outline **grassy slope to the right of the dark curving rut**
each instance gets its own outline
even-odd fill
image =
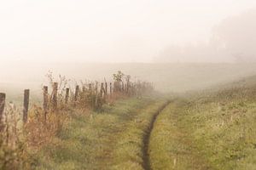
[[[152,169],[256,169],[255,87],[243,80],[168,105],[150,138]]]

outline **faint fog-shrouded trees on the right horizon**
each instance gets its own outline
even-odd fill
[[[156,61],[169,62],[255,62],[256,8],[222,20],[212,28],[208,42],[171,45]]]

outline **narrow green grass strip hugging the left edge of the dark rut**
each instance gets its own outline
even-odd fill
[[[129,122],[126,130],[120,135],[118,143],[113,150],[113,166],[110,169],[143,169],[144,161],[143,153],[144,138],[148,133],[148,127],[153,116],[165,104],[164,100],[160,100],[154,105],[149,105],[140,112],[132,122]]]

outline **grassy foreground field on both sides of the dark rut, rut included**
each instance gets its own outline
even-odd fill
[[[120,99],[74,110],[36,169],[256,168],[256,77],[167,99]]]

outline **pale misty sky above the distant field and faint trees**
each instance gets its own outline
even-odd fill
[[[162,48],[207,42],[255,0],[8,0],[3,61],[150,62]]]

